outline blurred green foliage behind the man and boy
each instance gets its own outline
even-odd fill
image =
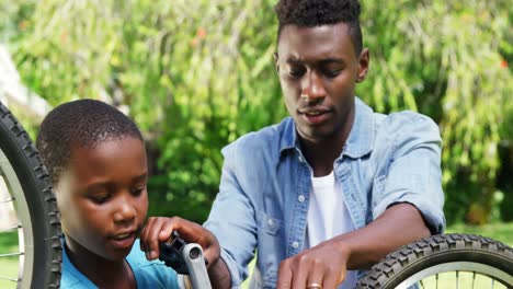
[[[150,215],[205,220],[220,149],[287,115],[273,68],[275,0],[15,0],[0,43],[50,105],[92,97],[147,139]],[[363,0],[372,62],[357,95],[431,116],[449,223],[513,220],[513,10],[506,0]],[[24,119],[34,137],[37,122]]]

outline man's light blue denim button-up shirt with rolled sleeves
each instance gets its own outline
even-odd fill
[[[244,135],[223,149],[219,194],[205,227],[221,245],[232,287],[275,288],[280,262],[305,248],[311,167],[299,149],[294,120]],[[432,233],[445,227],[438,127],[426,116],[377,114],[355,101],[352,130],[334,162],[354,222],[361,229],[390,205],[409,203]],[[408,228],[404,228],[408,230]]]

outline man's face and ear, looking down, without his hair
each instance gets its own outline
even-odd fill
[[[356,54],[347,24],[284,26],[275,60],[303,139],[318,141],[351,129],[354,88],[367,72],[368,51]]]

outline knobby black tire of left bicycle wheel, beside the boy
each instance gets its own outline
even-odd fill
[[[11,114],[11,112],[0,102],[0,132],[4,134],[0,136],[1,141],[10,141],[19,148],[16,151],[19,158],[24,158],[25,163],[29,163],[32,169],[32,176],[38,190],[41,192],[39,201],[42,203],[38,206],[42,206],[44,213],[46,215],[45,220],[45,235],[46,235],[46,245],[47,254],[46,256],[49,259],[46,259],[46,264],[35,264],[34,266],[41,268],[34,268],[38,270],[45,270],[43,274],[45,276],[44,280],[31,280],[33,288],[59,288],[60,286],[60,270],[61,270],[61,228],[60,228],[60,216],[57,209],[56,198],[54,192],[52,190],[52,180],[48,176],[46,167],[43,165],[37,150],[33,144],[31,138],[23,129],[18,119]],[[21,157],[23,155],[23,157]],[[9,155],[8,155],[9,158]],[[16,170],[16,174],[19,174]],[[31,199],[27,197],[27,203]],[[32,216],[31,216],[32,219]],[[42,220],[38,220],[42,221]],[[38,226],[39,223],[33,223]],[[34,240],[37,241],[37,240]],[[37,254],[37,253],[36,253]],[[38,275],[39,276],[39,275]]]

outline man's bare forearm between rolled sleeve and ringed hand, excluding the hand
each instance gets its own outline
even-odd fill
[[[394,250],[430,234],[414,206],[398,204],[368,226],[334,240],[349,251],[347,269],[368,269]]]

